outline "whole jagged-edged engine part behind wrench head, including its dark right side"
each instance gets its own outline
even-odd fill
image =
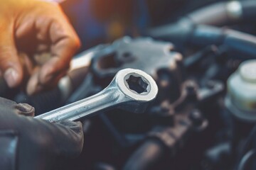
[[[142,69],[156,80],[159,98],[163,100],[171,96],[174,101],[181,95],[184,79],[182,60],[181,54],[175,52],[169,42],[124,37],[95,52],[91,68],[95,82],[102,86],[106,86],[120,69]]]

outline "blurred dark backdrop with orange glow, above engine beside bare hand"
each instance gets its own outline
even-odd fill
[[[176,21],[181,16],[220,0],[72,0],[62,3],[82,40],[82,49],[139,35],[146,28]]]

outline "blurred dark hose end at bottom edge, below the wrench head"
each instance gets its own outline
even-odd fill
[[[123,170],[157,169],[166,154],[166,147],[159,140],[147,140],[128,159]]]

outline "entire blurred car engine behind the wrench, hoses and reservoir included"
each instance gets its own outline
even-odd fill
[[[0,82],[1,96],[41,115],[97,94],[122,69],[156,81],[144,113],[112,108],[81,118],[82,154],[61,169],[256,169],[256,1],[168,3],[181,7],[154,15],[155,26],[76,55],[56,89],[27,96]]]

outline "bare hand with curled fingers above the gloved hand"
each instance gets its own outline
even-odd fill
[[[0,76],[29,95],[50,89],[68,71],[80,47],[58,4],[0,0]]]

